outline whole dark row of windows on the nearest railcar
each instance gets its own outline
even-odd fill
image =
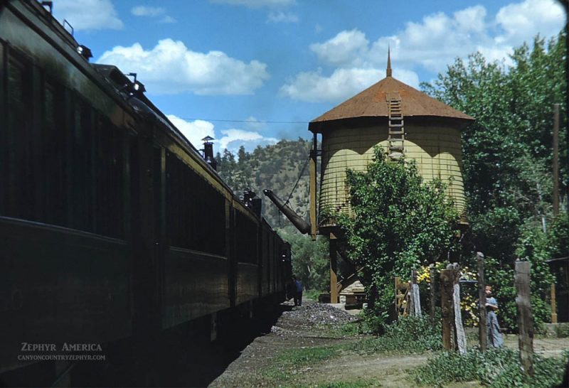
[[[15,50],[6,73],[0,215],[124,237],[122,131]]]

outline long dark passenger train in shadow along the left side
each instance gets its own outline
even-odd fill
[[[34,363],[23,343],[194,320],[215,337],[285,298],[290,247],[260,199],[233,193],[136,75],[90,56],[50,1],[0,1],[0,380]]]

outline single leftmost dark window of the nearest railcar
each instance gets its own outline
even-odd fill
[[[9,217],[33,220],[31,66],[25,60],[10,58],[7,87],[8,152],[4,170],[6,177],[2,184],[5,185],[3,213]]]

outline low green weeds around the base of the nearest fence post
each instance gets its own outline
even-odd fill
[[[521,372],[519,352],[515,350],[502,348],[479,352],[471,349],[464,355],[442,352],[418,368],[413,379],[416,384],[436,387],[475,380],[496,388],[553,387],[563,379],[568,355],[567,352],[557,358],[535,355],[535,374],[526,377]]]

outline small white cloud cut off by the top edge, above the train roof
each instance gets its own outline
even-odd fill
[[[75,31],[123,28],[117,11],[110,0],[58,0],[54,1],[55,18],[68,21]]]

